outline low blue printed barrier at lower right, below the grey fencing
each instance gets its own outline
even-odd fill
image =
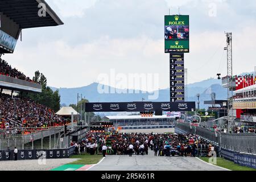
[[[256,156],[250,154],[242,154],[226,149],[221,150],[221,156],[224,159],[230,160],[240,166],[251,167],[256,169]]]

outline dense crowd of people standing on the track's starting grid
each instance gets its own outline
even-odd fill
[[[202,150],[207,156],[218,152],[216,144],[193,134],[142,134],[142,133],[118,133],[114,139],[108,142],[106,134],[86,134],[86,137],[79,143],[72,142],[75,146],[75,154],[95,155],[101,153],[102,148],[107,148],[108,155],[148,155],[154,151],[155,156],[200,156]],[[106,147],[106,145],[108,147]],[[132,146],[132,147],[131,147]],[[132,148],[132,150],[131,150]],[[172,153],[174,152],[175,153]],[[131,154],[132,152],[132,154]]]

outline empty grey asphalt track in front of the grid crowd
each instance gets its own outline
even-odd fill
[[[111,155],[106,156],[101,163],[89,171],[224,171],[225,169],[212,166],[197,158],[179,156],[148,155]]]

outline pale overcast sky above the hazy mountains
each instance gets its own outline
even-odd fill
[[[30,77],[36,70],[43,72],[50,86],[89,85],[115,69],[126,75],[159,73],[159,88],[168,88],[164,15],[170,8],[177,14],[178,7],[180,14],[190,15],[190,53],[185,54],[189,83],[226,75],[224,31],[233,32],[233,73],[252,72],[256,66],[256,1],[47,2],[65,24],[23,30],[14,54],[3,59]]]

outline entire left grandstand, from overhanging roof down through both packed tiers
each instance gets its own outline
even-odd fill
[[[14,53],[23,30],[59,26],[64,23],[44,0],[0,1],[0,15],[0,137],[28,136],[27,140],[22,137],[22,143],[26,144],[31,142],[31,133],[48,127],[64,126],[68,120],[29,98],[15,96],[14,92],[41,93],[42,85],[24,75],[2,57],[5,53]],[[60,130],[53,131],[51,134],[60,132]],[[49,135],[41,133],[36,139]],[[16,145],[19,140],[19,138],[14,138],[13,141],[12,138],[9,139],[9,147]],[[4,139],[1,140],[2,144],[4,142]]]

